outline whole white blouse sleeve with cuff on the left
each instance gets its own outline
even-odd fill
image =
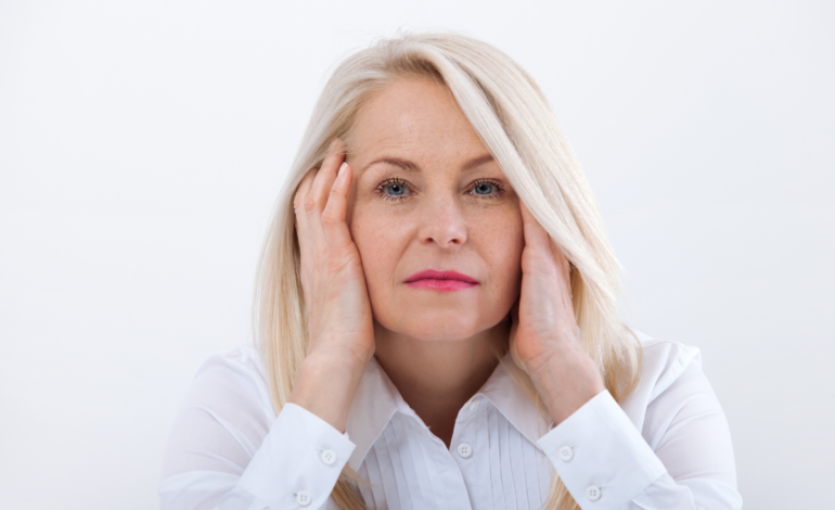
[[[275,417],[254,364],[241,349],[198,370],[168,441],[163,510],[325,508],[355,445],[295,404]]]

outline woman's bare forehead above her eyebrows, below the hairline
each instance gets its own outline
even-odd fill
[[[395,81],[371,99],[352,129],[355,155],[387,151],[471,155],[487,149],[450,90],[431,78]]]

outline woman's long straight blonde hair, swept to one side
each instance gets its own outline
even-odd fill
[[[321,165],[334,137],[349,138],[360,107],[391,82],[431,77],[446,85],[519,199],[573,266],[571,292],[586,350],[620,401],[640,377],[640,344],[621,322],[621,266],[598,205],[545,94],[492,46],[453,33],[384,39],[339,64],[313,110],[281,190],[262,247],[253,322],[277,411],[287,401],[307,350],[307,322],[293,195]],[[532,395],[541,407],[538,395]],[[332,496],[344,510],[365,508],[347,466]],[[548,509],[579,509],[554,473]]]

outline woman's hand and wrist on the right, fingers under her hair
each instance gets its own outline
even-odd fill
[[[525,234],[522,291],[511,309],[510,347],[555,424],[606,388],[574,315],[568,259],[519,202]]]

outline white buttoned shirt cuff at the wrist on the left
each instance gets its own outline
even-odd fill
[[[354,448],[347,434],[285,404],[237,488],[269,508],[323,508]]]

